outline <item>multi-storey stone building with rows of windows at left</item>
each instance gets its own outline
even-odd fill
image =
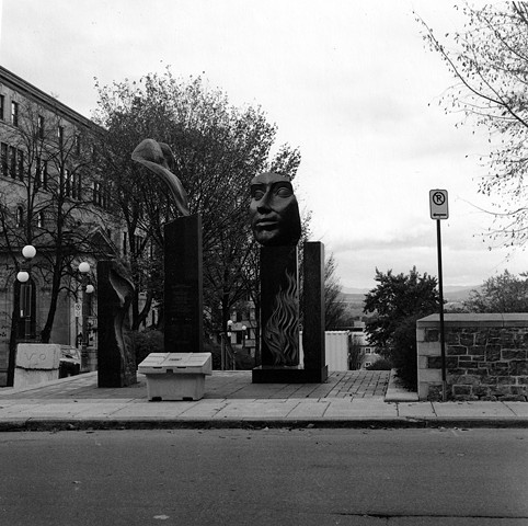
[[[38,341],[58,287],[49,341],[79,345],[79,263],[88,261],[93,267],[97,255],[122,250],[122,229],[106,209],[104,180],[91,163],[91,137],[101,132],[0,67],[0,386],[7,385],[12,329],[19,341]],[[36,256],[27,268],[28,282],[21,284],[16,274],[30,264],[21,254],[26,244],[36,248]],[[60,272],[54,272],[54,265],[61,265]],[[55,285],[54,275],[60,276]],[[88,301],[92,344],[95,297]]]

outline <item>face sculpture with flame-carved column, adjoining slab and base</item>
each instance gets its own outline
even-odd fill
[[[253,382],[325,381],[324,249],[320,242],[305,243],[305,363],[299,364],[297,243],[301,225],[289,179],[269,172],[254,178],[250,218],[262,245],[262,366],[253,369]]]

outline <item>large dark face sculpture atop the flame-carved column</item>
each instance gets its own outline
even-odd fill
[[[295,245],[300,238],[299,205],[289,179],[265,172],[251,181],[251,229],[264,247]]]

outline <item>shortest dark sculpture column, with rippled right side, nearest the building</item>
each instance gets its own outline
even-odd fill
[[[116,261],[97,262],[97,387],[136,384],[136,353],[130,338],[134,285]]]

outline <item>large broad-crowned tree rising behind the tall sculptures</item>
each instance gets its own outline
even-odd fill
[[[147,249],[163,247],[162,225],[176,217],[164,199],[164,191],[130,160],[145,138],[168,144],[174,152],[174,173],[188,194],[192,214],[203,222],[205,301],[213,325],[225,327],[232,306],[246,296],[254,278],[250,263],[255,247],[246,210],[249,183],[259,172],[278,170],[295,176],[300,162],[297,149],[283,145],[271,155],[276,125],[261,107],[237,108],[225,93],[211,90],[202,78],[175,79],[147,75],[138,83],[127,80],[111,87],[97,84],[100,101],[95,118],[107,135],[100,145],[102,171],[113,182],[112,199],[127,225],[127,260],[138,290],[147,291],[140,311],[135,301],[134,327],[145,320],[151,300],[162,302],[161,265],[158,285],[140,262]]]

